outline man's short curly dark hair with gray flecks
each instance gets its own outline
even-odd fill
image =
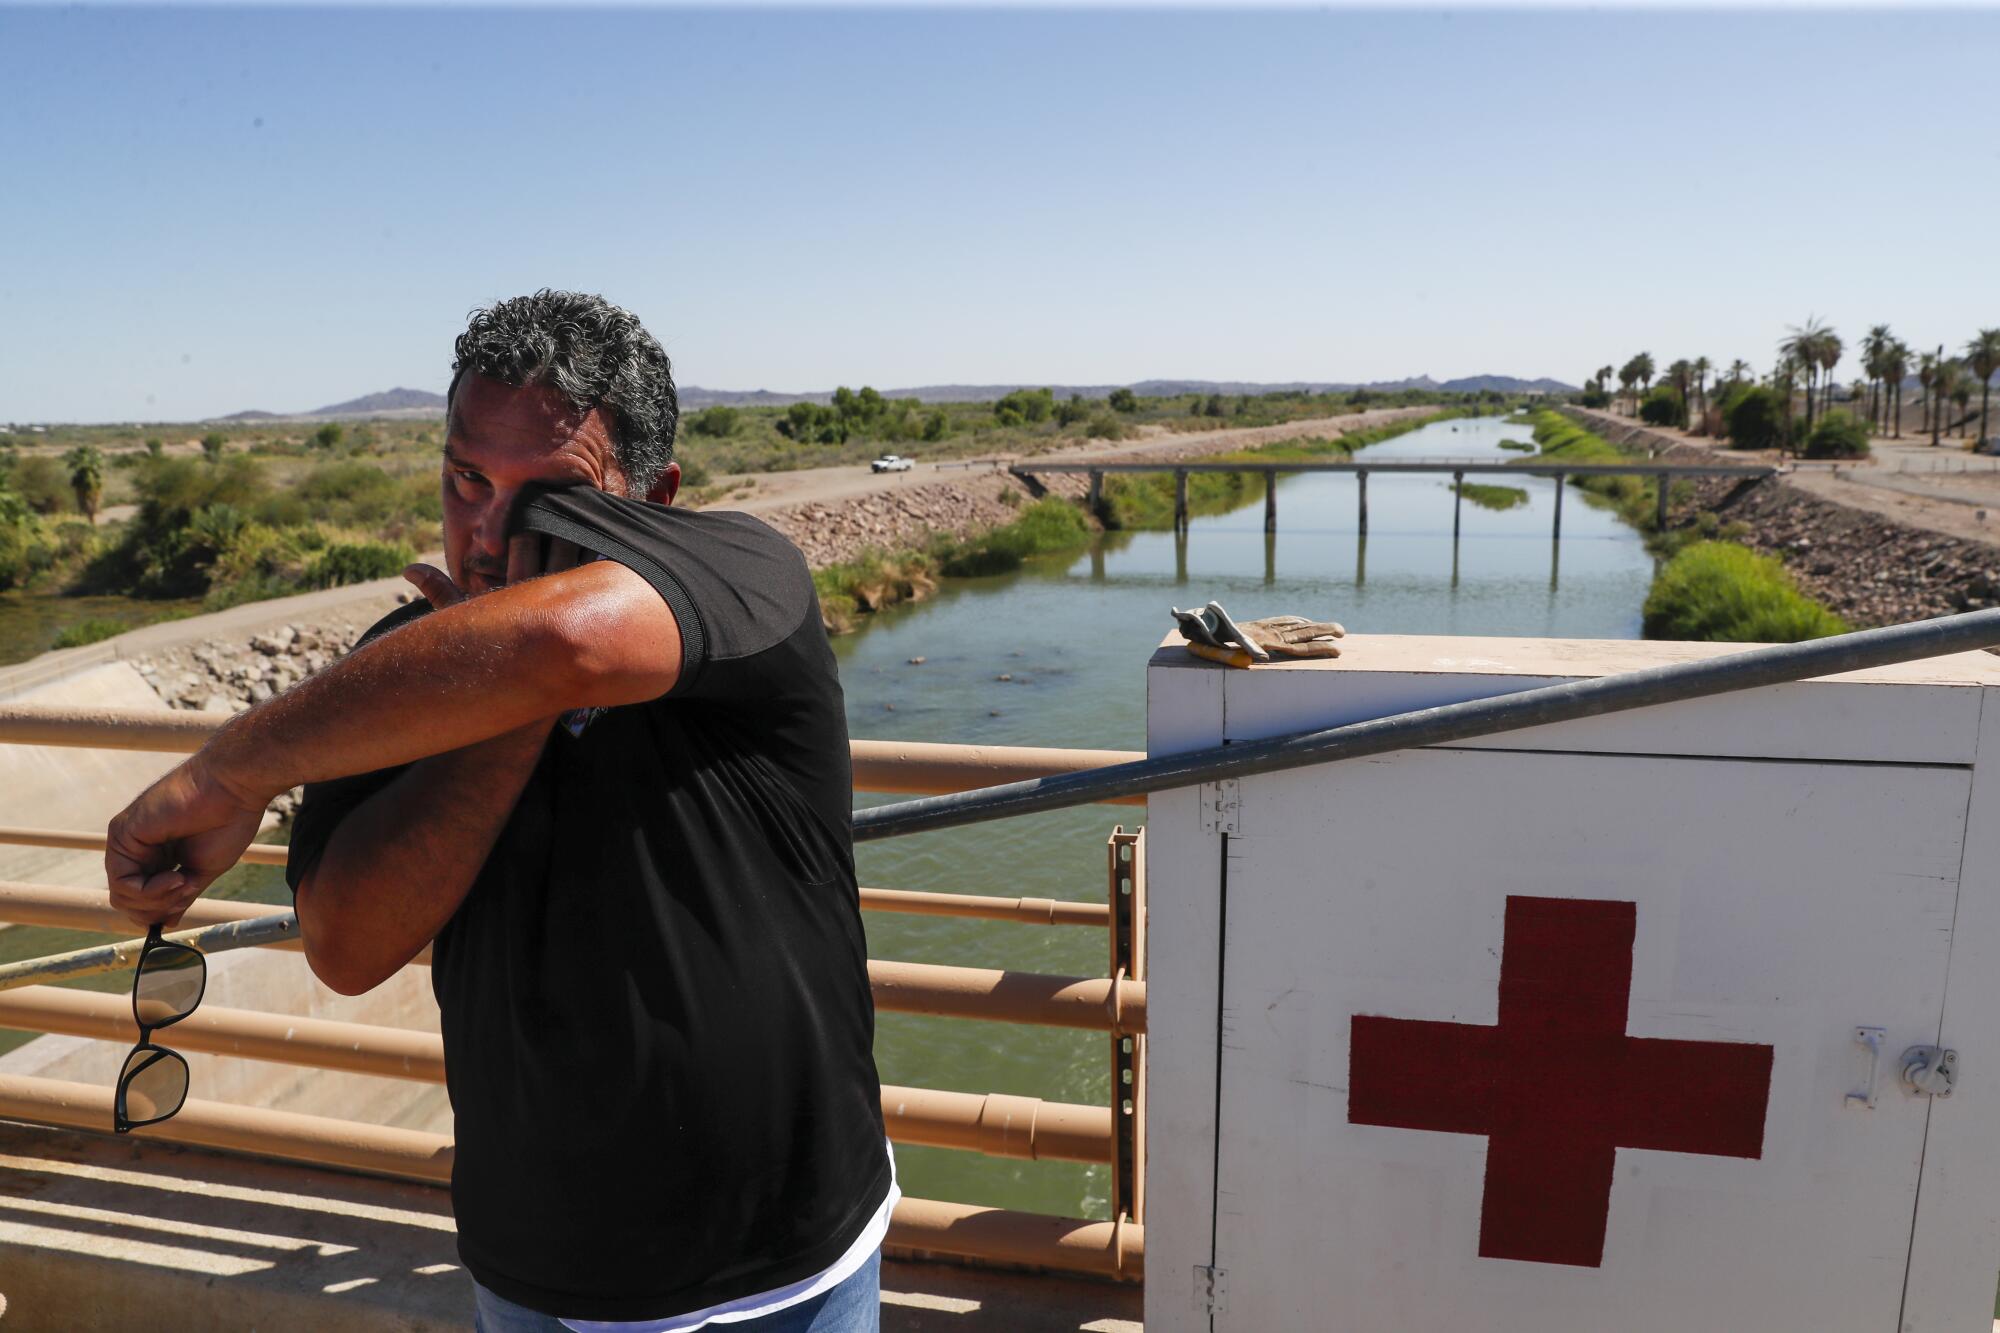
[[[632,494],[646,494],[674,460],[674,366],[636,314],[602,296],[542,288],[474,310],[452,346],[446,404],[468,370],[514,388],[548,384],[578,414],[604,408]]]

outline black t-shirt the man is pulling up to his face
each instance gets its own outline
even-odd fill
[[[554,729],[438,935],[458,1253],[506,1299],[572,1319],[812,1277],[890,1185],[846,715],[812,574],[746,514],[594,488],[520,514],[658,588],[684,662],[662,699]],[[294,889],[396,773],[306,789]]]

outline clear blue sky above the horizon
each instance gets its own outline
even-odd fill
[[[712,388],[1956,346],[1996,56],[1978,12],[0,6],[0,420],[442,388],[536,286]]]

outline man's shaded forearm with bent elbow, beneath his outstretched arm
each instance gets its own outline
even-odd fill
[[[548,719],[410,767],[340,821],[298,887],[312,971],[360,995],[452,919],[548,741]]]

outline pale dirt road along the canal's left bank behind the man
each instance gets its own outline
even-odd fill
[[[1296,440],[1298,436],[1334,436],[1344,430],[1354,430],[1356,426],[1376,426],[1402,416],[1428,416],[1436,410],[1436,406],[1376,408],[1368,412],[1350,412],[1348,416],[1314,416],[1310,420],[1290,420],[1278,426],[1242,426],[1234,430],[1170,432],[1152,426],[1142,438],[1136,440],[1096,440],[1080,448],[1060,448],[1046,454],[1034,454],[1034,460],[1078,462],[1102,458],[1108,462],[1112,458],[1138,460],[1216,454],[1230,448],[1248,448],[1252,444]],[[998,454],[992,458],[918,462],[908,472],[870,472],[864,462],[836,468],[798,468],[796,472],[742,472],[716,478],[716,482],[710,484],[710,492],[718,496],[714,500],[714,508],[738,508],[750,514],[764,514],[778,508],[790,508],[792,504],[810,504],[814,500],[846,500],[862,494],[892,492],[896,486],[952,480],[954,476],[964,476],[966,472],[1000,472],[1014,462],[1022,462],[1026,454]],[[722,498],[740,494],[742,486],[750,486],[750,494],[742,498]]]

